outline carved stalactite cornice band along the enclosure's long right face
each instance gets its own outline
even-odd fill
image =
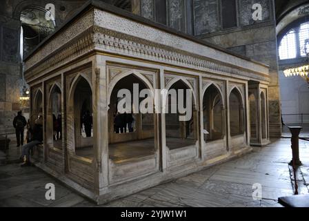
[[[140,57],[150,59],[151,61],[203,70],[210,73],[215,71],[234,75],[233,77],[248,77],[269,81],[268,77],[264,77],[258,73],[251,73],[240,68],[224,65],[223,62],[210,61],[206,57],[194,55],[190,52],[181,51],[97,26],[94,26],[94,48],[113,53],[116,52],[121,55]]]

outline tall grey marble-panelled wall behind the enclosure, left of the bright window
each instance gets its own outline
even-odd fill
[[[270,136],[281,135],[280,93],[278,79],[277,36],[274,5],[271,0],[259,1],[262,20],[252,19],[252,0],[237,1],[237,27],[224,30],[220,21],[224,13],[216,0],[195,0],[195,34],[213,44],[250,57],[270,66],[269,112]],[[213,8],[214,10],[211,10]],[[217,8],[217,11],[215,10]],[[212,11],[212,16],[208,15]]]

